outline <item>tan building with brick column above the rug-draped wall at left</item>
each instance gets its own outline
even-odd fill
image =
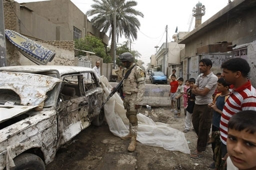
[[[108,36],[93,26],[70,0],[18,3],[3,0],[5,29],[40,41],[74,40],[93,35],[108,45]]]

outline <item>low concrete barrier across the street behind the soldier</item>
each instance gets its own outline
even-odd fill
[[[118,83],[109,82],[112,87],[115,87]],[[145,84],[145,92],[143,101],[140,105],[149,105],[149,106],[170,106],[170,98],[169,98],[169,85],[155,85],[155,84]],[[182,98],[183,99],[183,98]],[[181,99],[181,101],[182,101]],[[183,106],[182,102],[181,106]]]

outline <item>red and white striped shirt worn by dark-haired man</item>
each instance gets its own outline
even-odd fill
[[[256,90],[252,87],[249,80],[242,86],[233,89],[226,100],[219,125],[220,140],[223,144],[226,145],[227,123],[229,119],[233,114],[244,110],[256,111]]]

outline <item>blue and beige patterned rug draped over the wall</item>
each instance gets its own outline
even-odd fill
[[[18,48],[21,54],[38,65],[46,65],[55,56],[53,51],[44,48],[13,30],[5,29],[5,36]]]

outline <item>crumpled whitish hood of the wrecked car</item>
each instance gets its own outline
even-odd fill
[[[12,90],[20,98],[15,105],[12,96],[0,96],[0,122],[37,107],[46,98],[46,93],[61,80],[45,75],[31,73],[0,72],[0,90]],[[12,104],[8,104],[12,103]]]

